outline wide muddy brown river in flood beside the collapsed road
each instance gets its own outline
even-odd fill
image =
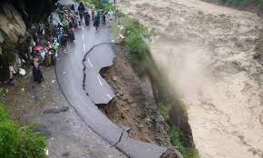
[[[189,107],[202,158],[263,157],[263,74],[253,60],[258,15],[200,0],[122,0],[156,30],[151,54]]]

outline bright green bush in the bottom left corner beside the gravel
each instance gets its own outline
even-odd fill
[[[0,88],[0,157],[46,158],[46,143],[40,133],[34,132],[35,124],[20,127],[13,121],[4,105],[4,93]]]

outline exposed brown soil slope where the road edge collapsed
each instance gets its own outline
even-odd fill
[[[132,138],[148,143],[170,146],[166,133],[167,124],[157,106],[151,90],[133,73],[132,65],[125,57],[122,45],[114,45],[116,53],[113,65],[102,71],[102,76],[112,86],[116,97],[112,102],[101,107],[113,123],[131,127]]]

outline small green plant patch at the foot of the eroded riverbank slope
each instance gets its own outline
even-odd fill
[[[183,155],[183,158],[199,158],[199,152],[195,148],[186,148],[182,145],[182,134],[178,131],[180,130],[176,130],[175,127],[170,128],[170,143],[177,148],[177,150]]]

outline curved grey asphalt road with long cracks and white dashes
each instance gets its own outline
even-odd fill
[[[71,2],[63,1],[66,4]],[[95,105],[107,104],[114,97],[110,86],[99,74],[103,67],[112,65],[114,58],[111,45],[102,44],[110,42],[109,36],[107,28],[96,31],[93,26],[83,24],[75,32],[75,42],[69,43],[67,51],[58,56],[58,82],[69,104],[94,133],[129,157],[158,158],[166,148],[132,140],[127,132],[112,123]],[[102,45],[93,48],[96,44]],[[91,48],[93,50],[87,54]]]

